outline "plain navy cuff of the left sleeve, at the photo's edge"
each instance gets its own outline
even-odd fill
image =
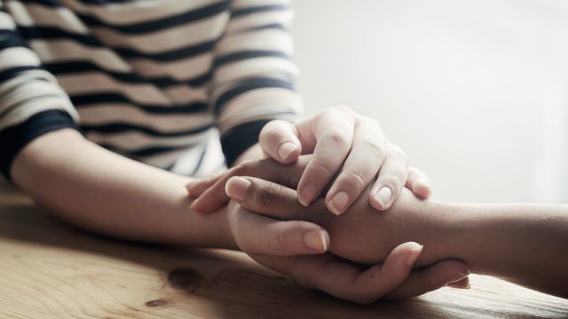
[[[36,113],[27,121],[0,131],[0,150],[2,150],[0,171],[2,174],[12,181],[10,173],[12,162],[24,146],[36,137],[62,128],[80,130],[69,114],[58,110],[48,110]]]

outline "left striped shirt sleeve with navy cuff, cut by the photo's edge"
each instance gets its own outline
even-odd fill
[[[79,128],[69,97],[4,9],[0,1],[0,171],[11,179],[12,161],[26,144],[57,129]]]

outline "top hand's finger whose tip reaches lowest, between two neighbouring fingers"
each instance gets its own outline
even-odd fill
[[[355,127],[351,152],[327,191],[327,209],[343,214],[375,178],[383,165],[384,153],[385,138],[378,121],[360,120]]]

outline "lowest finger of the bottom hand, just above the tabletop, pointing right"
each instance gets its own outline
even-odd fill
[[[403,284],[384,297],[400,299],[419,296],[461,280],[468,275],[468,266],[461,261],[439,261],[427,268],[414,269]]]

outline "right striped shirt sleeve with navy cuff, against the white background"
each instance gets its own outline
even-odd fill
[[[217,114],[228,165],[256,144],[268,121],[296,121],[296,93],[288,0],[233,0],[225,35],[216,46],[211,107]]]

